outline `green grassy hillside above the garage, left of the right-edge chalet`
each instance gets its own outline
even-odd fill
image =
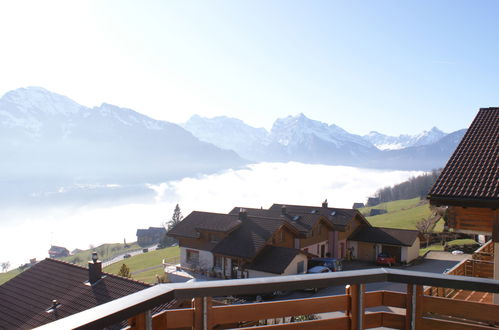
[[[431,215],[429,204],[419,198],[381,203],[374,207],[359,209],[359,211],[362,214],[369,214],[372,208],[386,209],[388,211],[385,214],[366,217],[367,221],[377,227],[416,229],[418,221]],[[440,220],[435,226],[435,231],[439,232],[442,229],[443,221]]]

